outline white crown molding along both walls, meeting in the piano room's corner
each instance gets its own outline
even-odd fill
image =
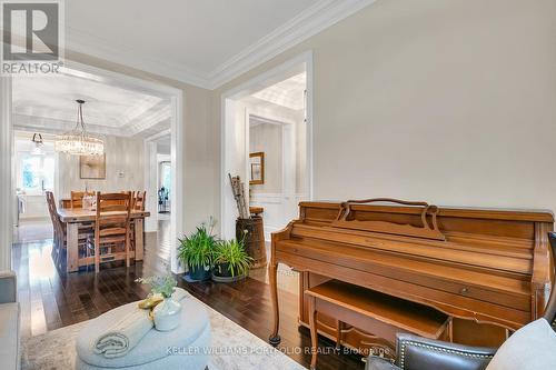
[[[262,64],[287,49],[374,3],[376,0],[320,0],[272,32],[237,53],[210,73],[191,70],[182,63],[145,56],[126,46],[110,46],[90,33],[69,28],[67,49],[127,67],[159,74],[203,89],[214,90]]]

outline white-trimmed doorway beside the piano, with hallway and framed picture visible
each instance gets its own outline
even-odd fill
[[[221,237],[238,217],[228,173],[262,211],[265,239],[312,199],[312,53],[300,54],[222,94]],[[262,156],[254,156],[262,153]]]

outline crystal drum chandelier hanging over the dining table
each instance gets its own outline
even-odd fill
[[[101,156],[105,142],[87,133],[83,122],[85,100],[76,100],[78,106],[76,128],[56,138],[54,150],[73,156]]]

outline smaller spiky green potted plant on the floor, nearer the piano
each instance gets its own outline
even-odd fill
[[[252,258],[245,250],[242,241],[222,240],[216,246],[214,262],[212,280],[231,282],[247,277]]]

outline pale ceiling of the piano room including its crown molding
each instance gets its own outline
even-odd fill
[[[71,0],[68,49],[217,88],[374,0]]]

